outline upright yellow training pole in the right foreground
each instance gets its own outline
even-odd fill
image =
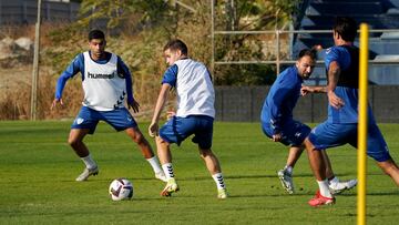
[[[360,24],[357,224],[366,225],[368,25]]]

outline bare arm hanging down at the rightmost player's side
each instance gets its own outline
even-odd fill
[[[336,109],[340,109],[345,104],[344,101],[334,93],[334,90],[337,88],[340,67],[337,61],[332,61],[328,69],[327,96],[329,104]]]

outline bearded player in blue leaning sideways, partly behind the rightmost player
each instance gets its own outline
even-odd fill
[[[295,65],[284,70],[273,83],[262,109],[260,122],[264,133],[275,142],[289,145],[286,166],[278,171],[283,187],[294,193],[293,170],[304,152],[304,141],[310,133],[310,127],[293,119],[294,108],[300,96],[304,80],[307,80],[316,63],[316,51],[304,49]],[[339,182],[332,173],[329,158],[323,152],[327,165],[326,176],[334,193],[352,188],[356,180]]]

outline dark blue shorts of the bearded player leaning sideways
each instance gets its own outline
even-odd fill
[[[273,137],[270,123],[262,123],[262,130],[268,137]],[[300,146],[309,135],[310,127],[295,120],[287,121],[282,127],[282,143],[285,145]]]

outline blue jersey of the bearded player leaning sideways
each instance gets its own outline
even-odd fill
[[[270,86],[262,108],[262,123],[270,123],[274,134],[286,121],[293,120],[294,108],[300,96],[303,79],[295,65],[284,70]]]

